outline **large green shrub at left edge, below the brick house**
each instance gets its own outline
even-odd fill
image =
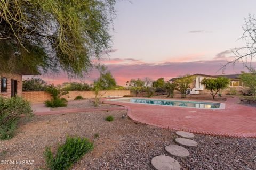
[[[33,116],[30,103],[22,97],[0,97],[0,139],[13,137],[21,114]]]

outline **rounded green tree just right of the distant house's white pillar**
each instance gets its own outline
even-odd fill
[[[211,91],[212,98],[214,99],[217,93],[220,90],[226,89],[229,84],[229,79],[226,77],[218,77],[218,78],[210,78],[206,79],[204,78],[201,81],[201,84],[205,86],[205,89]]]

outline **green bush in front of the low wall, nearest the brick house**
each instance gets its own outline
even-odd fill
[[[61,98],[62,95],[68,94],[68,91],[54,87],[53,85],[47,86],[46,92],[51,94],[52,99],[44,102],[46,107],[65,107],[67,106],[67,100]]]

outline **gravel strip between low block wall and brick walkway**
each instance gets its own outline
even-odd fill
[[[98,107],[121,107],[121,106],[101,103]],[[72,100],[72,101],[68,101],[66,107],[51,108],[51,111],[66,110],[66,109],[72,109],[72,108],[95,108],[95,107],[93,105],[93,102],[88,99]]]

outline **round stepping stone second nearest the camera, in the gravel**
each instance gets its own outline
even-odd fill
[[[165,147],[165,150],[169,154],[180,157],[180,158],[185,158],[189,156],[189,151],[186,148],[178,145],[168,145]]]

